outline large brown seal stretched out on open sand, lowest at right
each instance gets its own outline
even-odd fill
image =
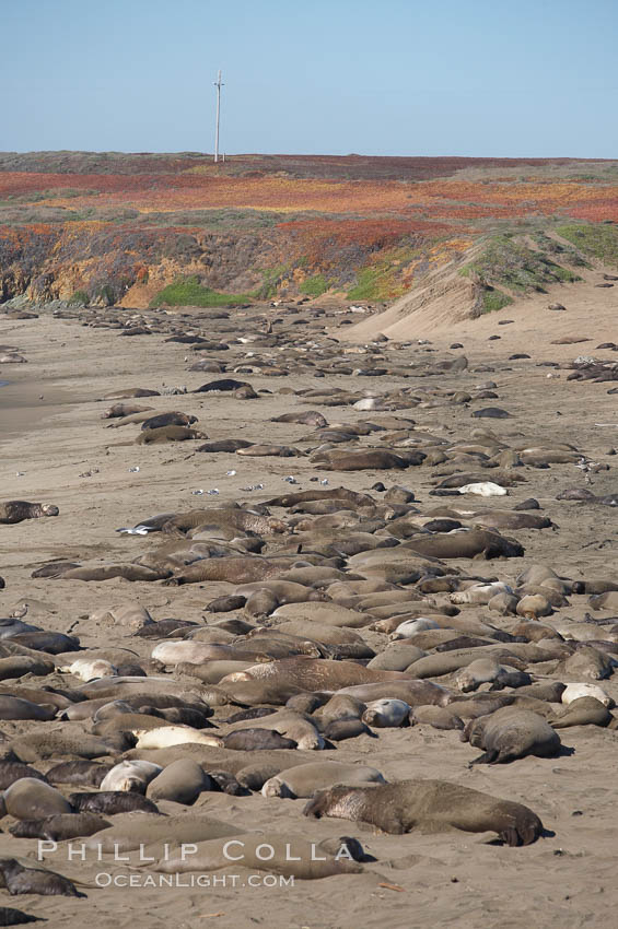
[[[331,787],[303,810],[305,816],[371,823],[395,835],[419,828],[495,832],[505,845],[530,845],[543,832],[539,818],[522,803],[499,800],[445,780],[400,780],[374,787]]]

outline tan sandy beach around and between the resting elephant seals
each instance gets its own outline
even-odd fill
[[[588,460],[607,465],[609,470],[592,474],[588,484],[573,463],[552,463],[548,468],[526,466],[515,469],[524,480],[509,489],[506,498],[476,499],[470,506],[512,509],[522,501],[535,497],[555,528],[506,531],[506,536],[516,538],[525,548],[524,557],[490,562],[462,558],[454,564],[470,574],[498,577],[512,585],[532,564],[548,565],[571,580],[616,579],[616,510],[557,499],[561,491],[573,486],[590,487],[597,496],[617,490],[618,418],[616,397],[607,392],[613,385],[569,381],[571,372],[562,367],[578,355],[616,360],[611,350],[596,349],[616,336],[616,291],[594,290],[597,277],[591,273],[587,283],[569,294],[565,313],[547,310],[547,304],[564,293],[557,287],[556,293],[454,325],[431,320],[422,314],[412,315],[405,325],[395,326],[393,332],[386,325],[388,319],[384,322],[377,317],[366,319],[355,331],[353,326],[341,326],[341,319],[348,317],[328,305],[324,316],[313,315],[312,307],[318,306],[319,301],[303,306],[300,315],[289,315],[285,307],[266,306],[232,310],[230,319],[221,320],[207,320],[199,310],[174,314],[147,310],[140,313],[141,321],[153,329],[160,327],[160,331],[133,338],[121,338],[117,329],[84,325],[95,319],[104,322],[115,313],[113,309],[82,310],[81,319],[77,313],[72,319],[53,318],[45,310],[36,319],[0,315],[0,341],[16,346],[27,358],[27,364],[3,365],[0,372],[10,381],[0,389],[2,499],[51,503],[60,510],[57,518],[0,527],[0,574],[5,580],[5,589],[0,592],[2,615],[8,616],[13,609],[27,603],[27,621],[44,630],[70,632],[79,637],[83,648],[130,648],[147,660],[153,640],[131,636],[130,630],[120,626],[97,623],[90,619],[91,614],[130,600],[145,608],[155,621],[176,618],[205,625],[221,619],[206,613],[206,604],[233,592],[234,585],[218,581],[171,587],[161,581],[131,583],[123,578],[83,583],[32,578],[32,573],[55,560],[79,564],[131,562],[161,540],[156,536],[118,533],[116,530],[123,527],[132,527],[161,513],[185,513],[232,503],[252,505],[291,490],[312,490],[316,487],[316,482],[311,480],[314,478],[328,482],[317,484],[318,487],[342,484],[371,493],[375,498],[380,497],[380,493],[372,491],[376,481],[383,481],[386,487],[403,485],[413,491],[415,505],[421,514],[453,503],[452,497],[441,501],[429,495],[438,483],[434,473],[438,469],[429,465],[401,472],[343,473],[320,470],[304,454],[290,458],[250,458],[232,452],[196,451],[205,439],[136,445],[139,424],[109,428],[117,421],[102,419],[113,402],[103,398],[133,387],[158,391],[186,387],[186,395],[162,392],[131,402],[152,407],[155,412],[190,413],[198,418],[196,428],[211,440],[233,437],[307,449],[316,445],[315,442],[303,444],[312,427],[271,420],[304,409],[319,411],[330,424],[378,420],[386,414],[365,413],[351,405],[329,407],[320,403],[319,397],[310,405],[306,398],[294,391],[340,388],[382,395],[405,387],[420,401],[395,409],[388,415],[411,418],[419,434],[464,442],[474,428],[483,427],[506,445],[571,443]],[[116,313],[129,315],[128,310]],[[304,326],[292,325],[299,318],[304,320]],[[504,319],[514,322],[499,325]],[[268,320],[282,340],[278,345],[261,348],[255,333],[265,332]],[[197,331],[215,342],[228,343],[229,348],[197,352],[190,344],[166,342],[172,327]],[[361,367],[368,355],[359,356],[349,350],[366,345],[381,331],[389,341],[373,343],[369,357],[373,364],[384,358],[388,371],[385,376],[351,376],[331,371],[316,378],[320,358],[331,358],[335,354],[347,358],[350,368]],[[255,337],[255,348],[250,341],[238,341],[238,336]],[[490,339],[495,336],[500,339]],[[553,344],[565,338],[573,341]],[[578,338],[586,341],[574,341]],[[419,344],[419,340],[429,340],[429,344]],[[455,342],[460,342],[463,348],[450,348]],[[303,356],[313,360],[317,368],[296,367],[294,357],[301,355],[294,356],[289,350],[292,343],[302,346]],[[254,360],[272,358],[272,364],[284,368],[288,376],[259,373],[257,367],[244,373],[252,367],[252,356],[247,357],[252,351]],[[527,357],[510,358],[516,354]],[[445,372],[442,377],[423,378],[412,372],[404,378],[390,373],[394,366],[404,368],[428,358],[438,361],[458,355],[467,357],[468,367],[456,374]],[[205,356],[222,362],[225,373],[188,369]],[[560,366],[541,366],[546,362]],[[258,397],[240,400],[229,393],[190,392],[218,377],[249,381]],[[474,392],[474,388],[486,381],[494,383],[498,399],[455,404],[446,396],[446,391]],[[482,405],[503,408],[510,418],[471,419],[471,412]],[[360,439],[359,447],[369,446],[380,446],[375,436]],[[293,486],[285,481],[289,477],[294,479]],[[256,485],[259,485],[256,490],[246,490]],[[218,493],[209,496],[209,491]],[[470,498],[464,502],[469,504]],[[289,516],[277,510],[277,515],[281,514]],[[276,550],[275,542],[268,545],[269,550]],[[590,609],[587,597],[573,597],[568,607],[543,622],[551,625],[564,618],[580,622]],[[479,620],[495,619],[487,607],[468,608],[465,612]],[[236,611],[233,615],[243,613]],[[607,620],[611,612],[605,610],[594,615]],[[376,652],[387,644],[387,636],[382,633],[363,628],[362,635]],[[551,677],[552,672],[548,670],[547,674]],[[15,681],[9,683],[13,685]],[[68,689],[79,682],[60,672],[48,679],[28,675],[20,681],[30,686],[43,683]],[[600,683],[618,702],[616,675]],[[2,720],[0,729],[10,742],[24,731],[39,731],[42,725],[61,728],[56,720],[47,724]],[[156,929],[172,924],[191,929],[211,925],[372,929],[421,927],[428,921],[441,927],[471,927],[480,922],[487,929],[611,925],[617,902],[613,852],[618,813],[614,809],[613,771],[618,763],[618,732],[576,726],[561,730],[563,752],[559,757],[526,757],[511,764],[471,768],[468,764],[478,752],[460,742],[458,736],[457,731],[429,725],[381,729],[378,738],[359,736],[339,742],[328,754],[336,755],[337,761],[371,764],[387,780],[442,778],[525,803],[540,816],[546,828],[546,834],[534,845],[510,848],[499,844],[495,836],[464,832],[380,834],[362,823],[303,818],[305,800],[302,799],[265,798],[259,792],[230,796],[205,791],[193,807],[184,810],[208,813],[244,831],[270,830],[304,836],[315,843],[354,836],[375,860],[366,863],[359,874],[296,880],[294,886],[265,886],[264,882],[249,886],[250,872],[231,866],[213,872],[219,885],[214,882],[210,887],[153,889],[124,885],[128,883],[128,874],[144,872],[143,868],[130,870],[136,865],[135,856],[129,865],[103,866],[95,861],[67,861],[60,849],[56,857],[46,860],[46,866],[79,882],[86,897],[28,894],[9,898],[3,893],[2,903],[47,919],[55,929],[84,921],[100,929],[129,926]],[[307,761],[314,761],[317,754],[324,753],[311,753]],[[51,762],[40,765],[45,769]],[[78,788],[71,788],[74,789]],[[167,813],[177,812],[178,807],[171,801],[161,803],[161,810]],[[12,822],[5,818],[0,823],[2,856],[33,859],[35,842],[13,838],[8,833]],[[113,875],[110,886],[96,886],[96,875],[101,872]],[[223,877],[228,878],[225,884]]]

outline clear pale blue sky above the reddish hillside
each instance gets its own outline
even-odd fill
[[[618,157],[615,0],[0,0],[0,150]]]

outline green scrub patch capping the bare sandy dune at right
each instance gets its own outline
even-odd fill
[[[545,243],[541,239],[538,244],[543,248]],[[555,254],[553,248],[548,250]],[[570,258],[567,260],[570,261]],[[574,271],[557,264],[543,250],[528,248],[512,233],[503,233],[488,239],[479,258],[463,268],[459,273],[467,277],[474,274],[483,285],[495,284],[520,294],[530,291],[546,293],[548,284],[582,280]]]

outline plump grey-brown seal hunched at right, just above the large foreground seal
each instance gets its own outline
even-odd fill
[[[464,729],[462,739],[485,749],[473,764],[505,764],[527,755],[555,757],[561,748],[560,737],[549,722],[516,706],[505,706],[473,720]]]

